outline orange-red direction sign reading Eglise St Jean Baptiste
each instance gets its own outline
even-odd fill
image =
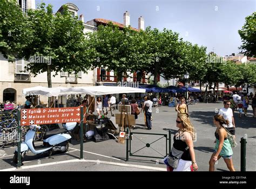
[[[80,107],[21,110],[21,125],[80,122]]]

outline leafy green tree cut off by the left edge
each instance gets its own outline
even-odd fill
[[[0,0],[0,52],[10,62],[31,42],[28,17],[15,0]]]

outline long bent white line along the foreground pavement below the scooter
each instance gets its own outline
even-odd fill
[[[166,168],[160,167],[150,167],[150,166],[143,166],[143,165],[133,165],[133,164],[123,164],[123,163],[114,163],[109,161],[99,161],[99,160],[85,160],[85,159],[72,159],[72,160],[65,160],[65,161],[58,161],[46,164],[39,164],[39,165],[29,165],[29,166],[22,166],[21,168],[6,168],[0,171],[17,171],[17,170],[25,170],[28,168],[36,168],[42,166],[50,166],[50,165],[57,165],[57,164],[66,164],[66,163],[75,163],[75,162],[90,162],[90,163],[99,163],[99,164],[109,164],[109,165],[116,165],[116,166],[123,166],[123,167],[132,167],[132,168],[144,168],[147,170],[154,170],[154,171],[166,171]]]

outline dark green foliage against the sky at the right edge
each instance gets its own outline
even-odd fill
[[[256,55],[256,12],[245,18],[245,25],[238,33],[242,39],[241,53],[247,56]]]

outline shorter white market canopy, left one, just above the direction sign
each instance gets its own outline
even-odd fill
[[[66,87],[58,86],[58,87],[44,87],[44,86],[35,86],[23,89],[23,95],[30,96],[30,95],[43,95],[46,97],[57,97],[60,95],[60,90],[66,89]]]

